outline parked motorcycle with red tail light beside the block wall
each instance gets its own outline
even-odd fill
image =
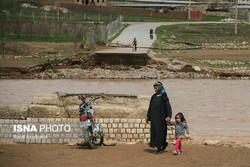
[[[81,137],[84,138],[82,147],[88,146],[89,149],[93,149],[94,146],[102,145],[104,138],[102,129],[95,122],[95,112],[91,106],[91,103],[100,97],[91,98],[89,102],[86,102],[82,96],[79,98],[82,101],[82,104],[79,106],[80,128],[83,133]]]

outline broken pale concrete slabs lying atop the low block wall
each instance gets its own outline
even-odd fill
[[[98,118],[145,118],[150,96],[117,97],[100,95],[92,107]],[[89,101],[90,97],[86,97]],[[0,104],[0,118],[78,118],[78,96],[38,94],[32,104]]]

